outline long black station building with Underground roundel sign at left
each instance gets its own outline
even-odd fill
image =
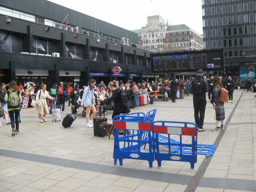
[[[0,82],[50,88],[151,75],[138,34],[47,0],[1,0],[0,22]]]

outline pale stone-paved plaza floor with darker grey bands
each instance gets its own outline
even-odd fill
[[[226,125],[211,132],[212,105],[207,102],[204,132],[198,144],[215,144],[213,156],[198,155],[194,169],[187,162],[124,160],[114,166],[113,136],[94,137],[79,113],[72,127],[61,122],[39,123],[34,108],[22,109],[20,134],[10,125],[0,128],[0,191],[4,192],[244,192],[256,191],[256,102],[252,92],[234,91],[234,103],[225,103]],[[194,122],[192,95],[176,103],[155,100],[131,109],[157,109],[155,120]],[[70,107],[62,118],[70,113]],[[112,111],[106,117],[111,122]]]

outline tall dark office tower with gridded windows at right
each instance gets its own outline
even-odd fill
[[[223,48],[222,76],[255,77],[256,1],[202,0],[204,49]]]

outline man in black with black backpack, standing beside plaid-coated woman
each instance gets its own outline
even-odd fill
[[[191,81],[191,92],[193,94],[194,118],[198,126],[198,132],[204,131],[204,113],[206,107],[206,93],[208,92],[208,83],[203,78],[203,70],[196,71],[196,77]]]

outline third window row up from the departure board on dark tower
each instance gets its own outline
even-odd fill
[[[256,14],[255,14],[256,18]],[[210,27],[210,26],[220,26],[220,25],[230,25],[230,24],[240,24],[240,23],[248,23],[254,22],[254,14],[249,15],[238,15],[238,16],[228,16],[228,17],[217,17],[217,18],[208,18],[203,19],[203,27]]]

